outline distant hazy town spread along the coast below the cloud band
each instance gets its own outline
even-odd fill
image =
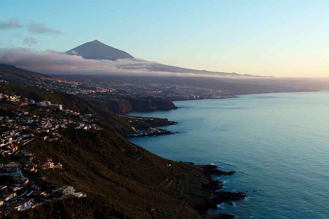
[[[6,82],[0,73],[3,82]],[[30,77],[30,76],[29,76]],[[90,98],[121,99],[126,97],[161,97],[172,100],[188,99],[223,99],[234,98],[231,91],[216,90],[197,86],[184,86],[162,83],[148,83],[143,81],[110,78],[110,80],[91,79],[88,77],[52,77],[35,74],[33,80],[25,82],[26,86],[34,86],[47,91],[62,91],[75,95],[86,95]],[[101,80],[101,81],[100,81]],[[15,79],[7,78],[11,83],[19,83]]]

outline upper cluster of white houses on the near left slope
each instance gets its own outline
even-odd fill
[[[0,156],[12,155],[19,145],[25,145],[35,140],[38,134],[46,142],[58,141],[61,138],[60,128],[72,127],[74,129],[100,130],[97,119],[92,114],[80,115],[72,110],[63,110],[60,104],[52,104],[50,101],[35,102],[17,96],[16,94],[0,94],[0,101],[12,103],[17,106],[34,105],[33,113],[25,110],[12,111],[11,115],[0,116],[0,126],[3,132],[0,138]],[[53,117],[41,112],[54,112],[62,117]]]

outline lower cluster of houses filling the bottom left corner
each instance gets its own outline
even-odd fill
[[[72,186],[52,188],[38,171],[62,169],[60,162],[51,158],[38,159],[27,151],[17,151],[10,157],[11,162],[0,164],[0,217],[13,211],[21,211],[67,197],[86,197]],[[30,179],[33,179],[33,184]],[[35,186],[40,182],[40,186]]]

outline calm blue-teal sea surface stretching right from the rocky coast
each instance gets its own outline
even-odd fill
[[[226,191],[248,191],[211,213],[240,219],[329,218],[329,91],[176,101],[174,135],[129,140],[167,159],[219,164]],[[256,191],[257,190],[257,191]]]

